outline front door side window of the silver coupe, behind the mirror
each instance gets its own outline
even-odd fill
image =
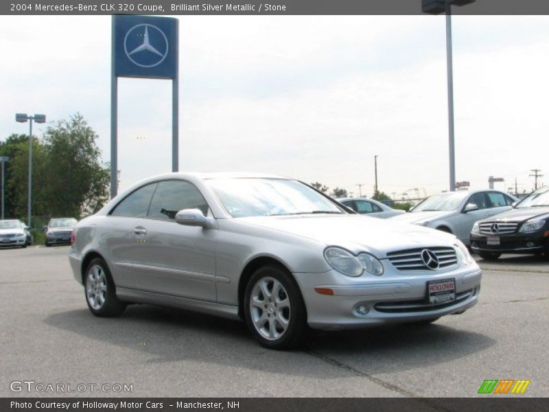
[[[154,192],[148,217],[170,220],[182,209],[195,208],[205,216],[208,214],[208,204],[195,185],[185,181],[163,181]]]

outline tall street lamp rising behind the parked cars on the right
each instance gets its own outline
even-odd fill
[[[450,192],[456,190],[456,155],[454,146],[454,71],[452,69],[452,5],[466,5],[476,0],[421,0],[421,10],[428,14],[446,12],[446,66],[448,78],[448,140]]]

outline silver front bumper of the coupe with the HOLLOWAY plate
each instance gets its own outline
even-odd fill
[[[482,271],[475,264],[446,271],[385,273],[380,277],[351,278],[337,271],[294,276],[305,299],[309,326],[339,330],[423,321],[463,312],[478,301]],[[456,281],[456,300],[429,304],[427,282],[449,278]],[[318,287],[330,288],[334,295],[321,295],[314,290]],[[367,312],[360,314],[360,306]]]

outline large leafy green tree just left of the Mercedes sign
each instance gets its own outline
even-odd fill
[[[49,214],[90,214],[108,200],[109,169],[101,162],[97,134],[79,113],[44,133]]]

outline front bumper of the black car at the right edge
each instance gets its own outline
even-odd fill
[[[512,233],[501,236],[487,236],[471,233],[471,250],[476,252],[495,253],[537,253],[549,251],[549,236],[544,236],[547,231],[541,230],[533,233]],[[487,238],[497,237],[500,244],[488,244]]]

